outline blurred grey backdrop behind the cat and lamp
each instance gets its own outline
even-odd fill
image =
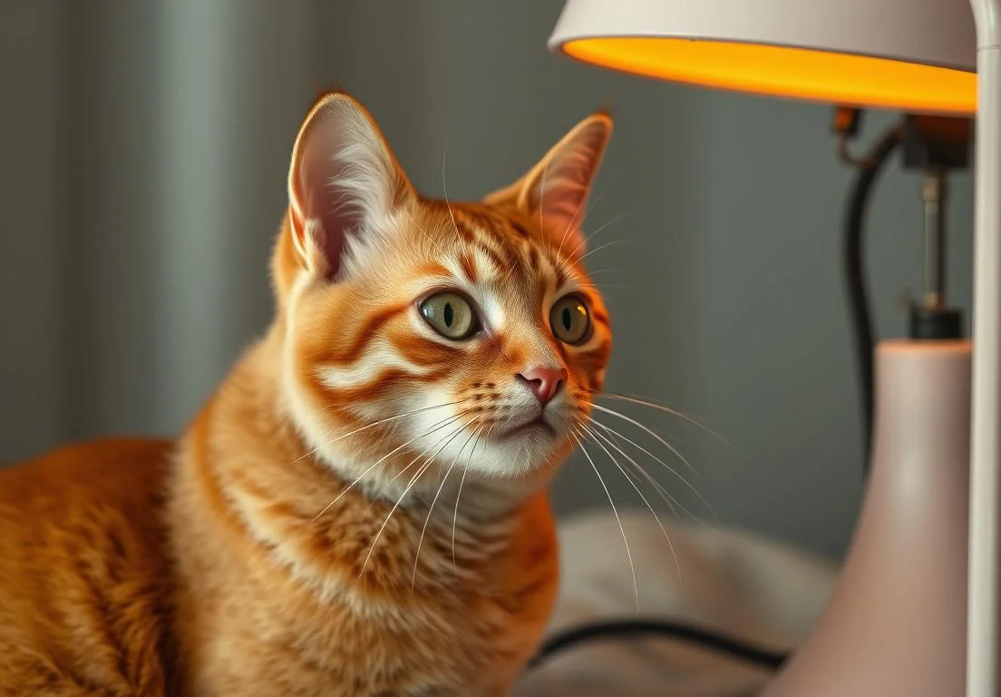
[[[608,387],[729,442],[624,410],[694,465],[711,511],[650,465],[694,514],[840,555],[861,465],[840,275],[849,172],[829,110],[574,64],[545,46],[560,7],[0,0],[0,460],[184,426],[267,320],[288,152],[320,89],[361,98],[427,193],[447,143],[454,198],[513,179],[611,101],[589,226],[610,223],[596,245],[632,241],[591,257],[616,328]],[[886,116],[871,121],[869,136]],[[951,283],[968,303],[968,176],[953,185]],[[869,244],[884,335],[920,280],[920,213],[916,178],[891,167]],[[617,502],[642,506],[599,465]],[[608,506],[579,456],[556,501]]]

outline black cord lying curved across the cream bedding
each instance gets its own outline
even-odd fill
[[[538,667],[553,654],[575,644],[599,639],[625,637],[666,637],[678,639],[691,644],[698,644],[722,654],[727,654],[733,658],[772,670],[778,669],[787,658],[783,653],[761,649],[744,643],[739,639],[680,622],[666,620],[610,620],[574,627],[553,635],[543,643],[539,653],[529,663],[529,668]]]

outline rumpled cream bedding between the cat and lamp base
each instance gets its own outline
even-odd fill
[[[776,651],[789,651],[806,636],[833,589],[834,565],[748,533],[662,521],[677,564],[649,511],[622,514],[640,618],[685,621]],[[560,535],[562,584],[550,634],[636,618],[633,576],[615,516],[567,521]],[[769,675],[682,641],[601,639],[555,654],[530,671],[514,694],[747,697]]]

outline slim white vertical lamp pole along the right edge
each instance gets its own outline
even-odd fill
[[[967,697],[997,697],[1001,543],[1001,0],[970,0],[977,28],[973,397]]]

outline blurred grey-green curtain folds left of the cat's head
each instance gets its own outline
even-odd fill
[[[318,3],[246,5],[4,1],[0,461],[176,432],[266,321]]]

